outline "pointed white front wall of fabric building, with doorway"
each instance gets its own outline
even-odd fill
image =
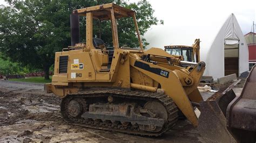
[[[249,70],[248,47],[233,13],[213,40],[207,52],[206,64],[205,75],[211,75],[214,79],[233,73],[239,76]]]

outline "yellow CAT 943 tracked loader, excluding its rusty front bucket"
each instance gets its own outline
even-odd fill
[[[79,17],[86,17],[86,42],[79,40]],[[118,19],[132,18],[139,48],[120,47]],[[71,46],[55,54],[52,83],[45,91],[62,97],[60,112],[72,125],[158,136],[178,120],[178,111],[198,126],[194,107],[203,98],[197,89],[205,63],[187,61],[160,48],[143,49],[133,10],[104,4],[73,10]],[[93,38],[93,20],[109,22],[112,46]],[[191,62],[190,62],[191,63]]]

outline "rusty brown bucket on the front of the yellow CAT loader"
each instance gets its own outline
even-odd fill
[[[232,88],[238,82],[240,80],[200,102],[198,130],[206,142],[236,142],[227,129],[226,110],[236,97]]]

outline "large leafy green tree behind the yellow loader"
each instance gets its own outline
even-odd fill
[[[111,0],[52,0],[52,1],[12,1],[0,7],[0,52],[11,61],[24,66],[43,69],[45,80],[49,79],[49,68],[54,63],[55,52],[68,47],[70,40],[70,14],[72,10],[93,5],[111,3]],[[158,19],[153,17],[153,9],[146,0],[138,3],[114,1],[126,8],[137,11],[140,34],[144,35]],[[82,30],[85,20],[81,21]],[[138,46],[132,20],[118,20],[120,46]],[[96,27],[96,26],[95,26]],[[103,28],[109,28],[102,26]],[[81,30],[81,31],[82,31]],[[84,32],[85,33],[85,32]],[[103,35],[109,35],[109,32]],[[81,34],[84,36],[83,34]],[[85,38],[85,37],[84,37]],[[110,41],[111,36],[104,40]],[[148,43],[143,39],[143,44]]]

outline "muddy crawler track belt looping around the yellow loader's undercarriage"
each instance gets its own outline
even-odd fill
[[[138,127],[134,126],[123,126],[122,124],[116,125],[113,123],[104,123],[104,122],[95,122],[93,120],[88,121],[81,118],[73,118],[66,111],[68,108],[69,102],[73,98],[81,98],[83,101],[84,98],[87,97],[103,97],[103,96],[113,96],[113,97],[121,97],[121,98],[132,98],[132,99],[145,99],[145,100],[158,100],[161,104],[163,104],[168,113],[168,118],[165,121],[164,127],[159,132],[147,132],[143,130],[139,130]],[[125,101],[125,99],[124,99]],[[157,94],[153,92],[147,92],[142,90],[126,90],[126,89],[106,89],[106,88],[91,88],[86,89],[85,91],[79,91],[76,94],[67,95],[62,99],[62,103],[60,105],[60,112],[62,113],[63,118],[71,125],[84,126],[89,128],[96,128],[99,130],[107,130],[107,131],[116,131],[128,134],[136,134],[136,135],[147,135],[157,137],[166,131],[170,130],[172,126],[178,120],[178,108],[176,104],[172,101],[167,95]]]

